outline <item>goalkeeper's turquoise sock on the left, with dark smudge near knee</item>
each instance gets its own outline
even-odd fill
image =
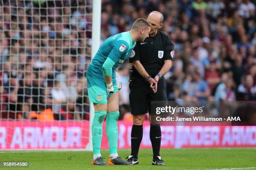
[[[106,117],[106,111],[95,112],[92,121],[92,148],[93,154],[100,154],[100,145],[102,138],[102,124]]]

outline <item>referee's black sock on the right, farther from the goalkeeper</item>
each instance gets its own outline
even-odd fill
[[[150,140],[153,149],[153,158],[160,156],[160,146],[161,146],[161,128],[160,125],[150,125]]]

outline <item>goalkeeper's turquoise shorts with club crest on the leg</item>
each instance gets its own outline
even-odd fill
[[[114,93],[118,92],[116,83],[113,82]],[[90,102],[106,104],[107,102],[107,89],[104,80],[96,79],[87,75],[87,90]]]

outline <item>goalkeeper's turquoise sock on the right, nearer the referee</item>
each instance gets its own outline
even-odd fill
[[[118,147],[118,121],[119,111],[107,114],[106,131],[110,154],[117,153]]]

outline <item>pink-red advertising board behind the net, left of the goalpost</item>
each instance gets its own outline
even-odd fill
[[[0,122],[0,149],[84,149],[89,122]]]

